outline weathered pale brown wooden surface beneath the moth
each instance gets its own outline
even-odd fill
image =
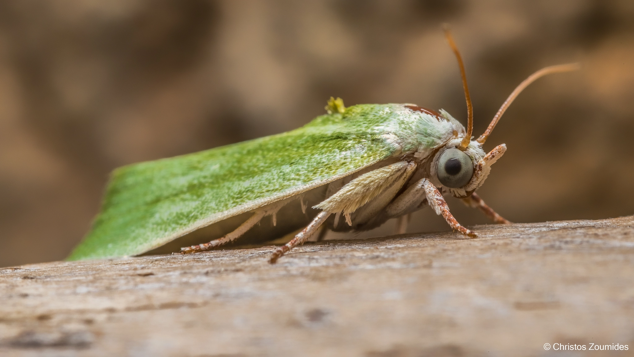
[[[1,356],[626,356],[634,216],[0,269]],[[545,343],[628,351],[546,351]]]

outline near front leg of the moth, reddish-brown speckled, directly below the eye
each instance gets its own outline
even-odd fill
[[[459,231],[465,236],[476,238],[477,235],[469,229],[460,226],[460,223],[449,212],[449,206],[444,200],[443,195],[428,179],[420,179],[416,184],[411,185],[401,196],[385,208],[385,213],[389,217],[399,217],[404,213],[408,213],[413,206],[417,206],[423,198],[427,198],[427,203],[436,212],[437,215],[443,215],[451,229]]]

